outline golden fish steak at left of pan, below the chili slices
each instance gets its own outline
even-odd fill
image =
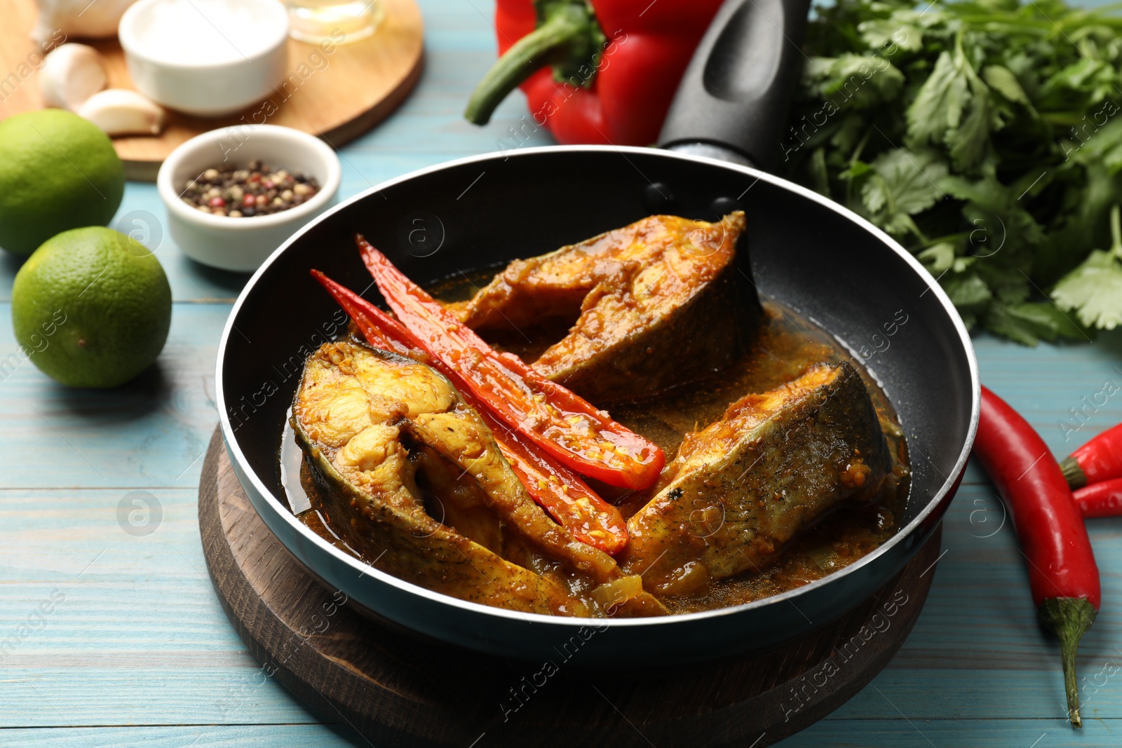
[[[564,581],[618,585],[615,560],[534,504],[490,430],[435,370],[353,342],[325,343],[305,363],[292,424],[331,526],[378,569],[500,608],[604,615]],[[572,573],[507,561],[507,533]]]

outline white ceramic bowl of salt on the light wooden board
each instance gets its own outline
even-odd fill
[[[137,90],[187,114],[239,112],[285,79],[288,13],[277,0],[139,0],[118,36]]]

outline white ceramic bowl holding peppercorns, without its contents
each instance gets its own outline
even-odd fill
[[[232,161],[260,159],[274,169],[314,176],[320,191],[300,205],[252,218],[212,215],[183,202],[187,179]],[[167,207],[168,232],[183,252],[204,265],[250,273],[297,229],[334,204],[339,157],[315,136],[274,124],[211,130],[173,150],[159,167],[156,188]]]

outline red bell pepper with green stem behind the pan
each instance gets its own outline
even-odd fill
[[[498,0],[502,56],[463,116],[486,124],[521,85],[559,142],[651,145],[720,2]]]

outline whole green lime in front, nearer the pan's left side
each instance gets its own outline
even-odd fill
[[[144,244],[103,227],[72,229],[16,274],[11,324],[44,373],[71,387],[116,387],[163,350],[172,288]]]

